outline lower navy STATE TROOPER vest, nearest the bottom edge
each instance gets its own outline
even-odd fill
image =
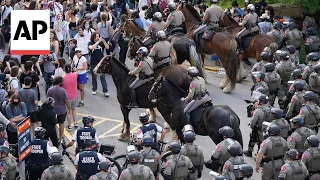
[[[83,151],[79,153],[78,171],[88,178],[97,173],[99,164],[98,154],[95,151]]]

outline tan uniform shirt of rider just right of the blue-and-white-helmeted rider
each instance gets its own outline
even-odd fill
[[[164,64],[171,64],[170,53],[173,47],[168,41],[159,41],[153,45],[150,50],[149,57],[153,59],[153,69],[157,69]]]

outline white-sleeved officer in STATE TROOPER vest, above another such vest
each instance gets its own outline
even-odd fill
[[[96,143],[99,144],[99,138],[97,136],[96,129],[92,127],[95,119],[91,116],[82,117],[83,126],[80,129],[77,129],[72,137],[72,141],[67,145],[67,148],[72,146],[74,142],[77,142],[76,154],[84,151],[86,139],[95,139]]]

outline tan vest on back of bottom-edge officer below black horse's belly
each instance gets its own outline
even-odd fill
[[[173,161],[175,163],[173,170],[173,179],[185,179],[189,175],[189,170],[187,163],[185,161],[185,156],[179,155],[174,157]]]

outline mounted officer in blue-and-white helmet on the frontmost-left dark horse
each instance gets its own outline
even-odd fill
[[[153,74],[153,61],[148,57],[148,49],[146,47],[140,47],[137,51],[139,58],[139,65],[133,71],[130,71],[129,75],[138,75],[138,77],[130,84],[130,96],[131,103],[128,108],[138,108],[136,88],[144,85],[152,78]]]

